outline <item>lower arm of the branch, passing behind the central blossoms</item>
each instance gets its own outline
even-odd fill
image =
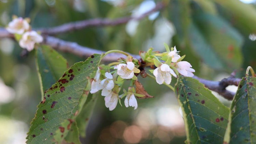
[[[13,38],[12,34],[9,34],[5,29],[0,28],[0,38]],[[85,46],[81,46],[75,42],[64,41],[55,37],[45,36],[44,44],[52,46],[54,49],[59,51],[68,52],[77,56],[81,57],[88,57],[91,54],[101,54],[104,51],[100,51],[97,49],[88,48]],[[140,59],[139,55],[132,55],[134,58]],[[111,53],[104,57],[104,61],[116,61],[120,57],[125,57],[123,54]],[[226,87],[229,85],[236,85],[238,86],[239,82],[241,81],[240,78],[235,78],[234,76],[230,76],[228,78],[224,78],[222,81],[210,81],[205,80],[203,78],[194,76],[193,78],[199,80],[201,83],[205,85],[205,87],[209,88],[210,90],[218,92],[222,95],[225,99],[232,100],[234,97],[234,92],[226,90]]]

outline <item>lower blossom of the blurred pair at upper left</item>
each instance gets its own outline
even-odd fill
[[[35,43],[41,43],[43,37],[35,31],[28,31],[22,35],[22,38],[19,41],[19,45],[22,48],[32,51],[34,49]]]

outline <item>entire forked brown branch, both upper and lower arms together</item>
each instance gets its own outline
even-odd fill
[[[140,20],[156,11],[161,10],[165,6],[164,3],[158,3],[156,7],[138,17],[122,17],[122,18],[117,18],[113,20],[109,19],[90,19],[90,20],[82,20],[82,21],[76,21],[68,24],[63,24],[60,26],[52,27],[52,28],[41,28],[41,29],[36,29],[40,30],[41,33],[44,35],[44,41],[42,42],[43,44],[47,44],[52,46],[54,49],[57,49],[58,51],[63,51],[63,52],[68,52],[80,57],[88,57],[94,53],[96,54],[101,54],[105,53],[104,51],[100,51],[97,49],[92,49],[89,47],[81,46],[75,42],[69,42],[69,41],[64,41],[61,39],[58,39],[56,37],[48,36],[48,35],[54,35],[54,34],[59,34],[59,33],[65,33],[68,31],[73,31],[73,30],[80,30],[86,27],[99,27],[99,26],[115,26],[115,25],[120,25],[120,24],[125,24],[129,20],[134,19],[134,20]],[[14,38],[13,34],[10,34],[8,31],[6,31],[4,28],[0,28],[0,38]],[[132,57],[140,59],[139,55],[132,55]],[[119,53],[111,53],[103,58],[104,61],[116,61],[118,58],[124,57],[123,54]],[[217,82],[217,81],[210,81],[210,80],[205,80],[203,78],[194,76],[193,78],[199,80],[201,83],[205,85],[205,87],[209,88],[210,90],[218,92],[220,95],[222,95],[224,98],[228,100],[232,100],[234,97],[234,92],[226,90],[226,87],[228,85],[236,85],[238,86],[238,83],[241,81],[239,78],[235,78],[233,75],[231,75],[228,78],[224,78],[222,81]]]

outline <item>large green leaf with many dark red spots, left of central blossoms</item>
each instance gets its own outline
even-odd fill
[[[84,62],[75,63],[46,91],[31,122],[27,143],[61,143],[80,112],[80,103],[87,98],[87,78],[97,70],[100,59],[101,55],[94,54]]]

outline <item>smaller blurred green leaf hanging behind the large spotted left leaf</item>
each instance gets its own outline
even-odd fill
[[[48,45],[41,45],[37,48],[36,53],[38,77],[41,81],[42,100],[44,91],[49,89],[59,78],[63,72],[68,69],[67,60],[58,52]]]

